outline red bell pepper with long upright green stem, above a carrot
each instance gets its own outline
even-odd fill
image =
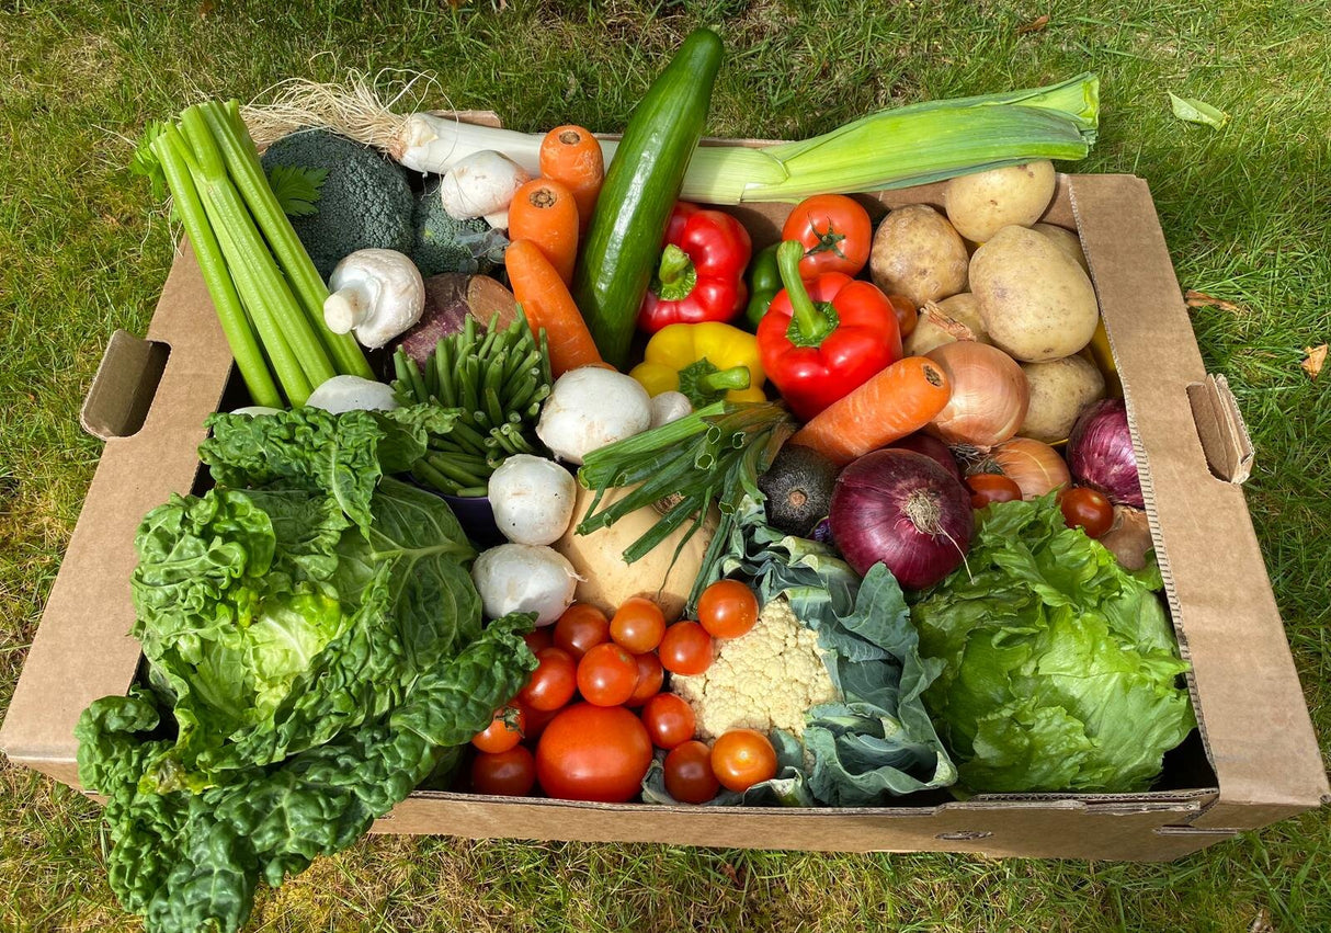
[[[785,289],[757,326],[768,379],[800,421],[809,421],[876,373],[901,359],[901,329],[892,302],[872,282],[828,272],[800,278],[804,246],[776,252]]]

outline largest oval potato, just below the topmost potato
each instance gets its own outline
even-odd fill
[[[1099,321],[1082,268],[1044,233],[1005,226],[970,260],[970,291],[994,346],[1025,363],[1070,357]]]

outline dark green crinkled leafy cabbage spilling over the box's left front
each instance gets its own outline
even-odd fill
[[[148,929],[237,929],[260,878],[359,837],[535,667],[530,614],[482,627],[447,504],[385,475],[423,453],[423,423],[216,417],[218,484],[140,526],[149,687],[93,703],[77,737],[109,799],[112,888]]]

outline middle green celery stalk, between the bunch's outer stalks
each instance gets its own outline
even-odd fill
[[[254,286],[266,293],[273,317],[309,383],[318,386],[331,379],[337,371],[299,303],[291,295],[291,290],[282,277],[282,270],[278,269],[273,254],[254,226],[254,220],[245,202],[228,177],[221,150],[217,148],[202,112],[197,106],[188,108],[181,113],[181,128],[198,158],[200,177],[194,181],[205,194],[205,205],[210,204],[216,210],[216,214],[213,210],[209,212],[213,228],[225,226],[236,249],[245,257],[246,266],[253,273]],[[281,377],[281,371],[278,377]],[[291,397],[291,391],[287,391],[287,397]],[[302,402],[293,398],[291,403],[301,405]]]

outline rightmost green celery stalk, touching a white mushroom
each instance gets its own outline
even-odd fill
[[[327,285],[315,270],[299,237],[295,236],[295,229],[278,204],[277,196],[273,194],[254,141],[241,121],[240,104],[234,100],[225,105],[212,101],[202,105],[202,113],[213,130],[213,137],[221,146],[232,181],[245,198],[260,230],[264,232],[273,256],[277,257],[278,265],[286,273],[291,291],[337,371],[373,379],[374,373],[370,370],[361,346],[355,342],[355,337],[334,334],[323,322],[323,299],[329,295]]]

